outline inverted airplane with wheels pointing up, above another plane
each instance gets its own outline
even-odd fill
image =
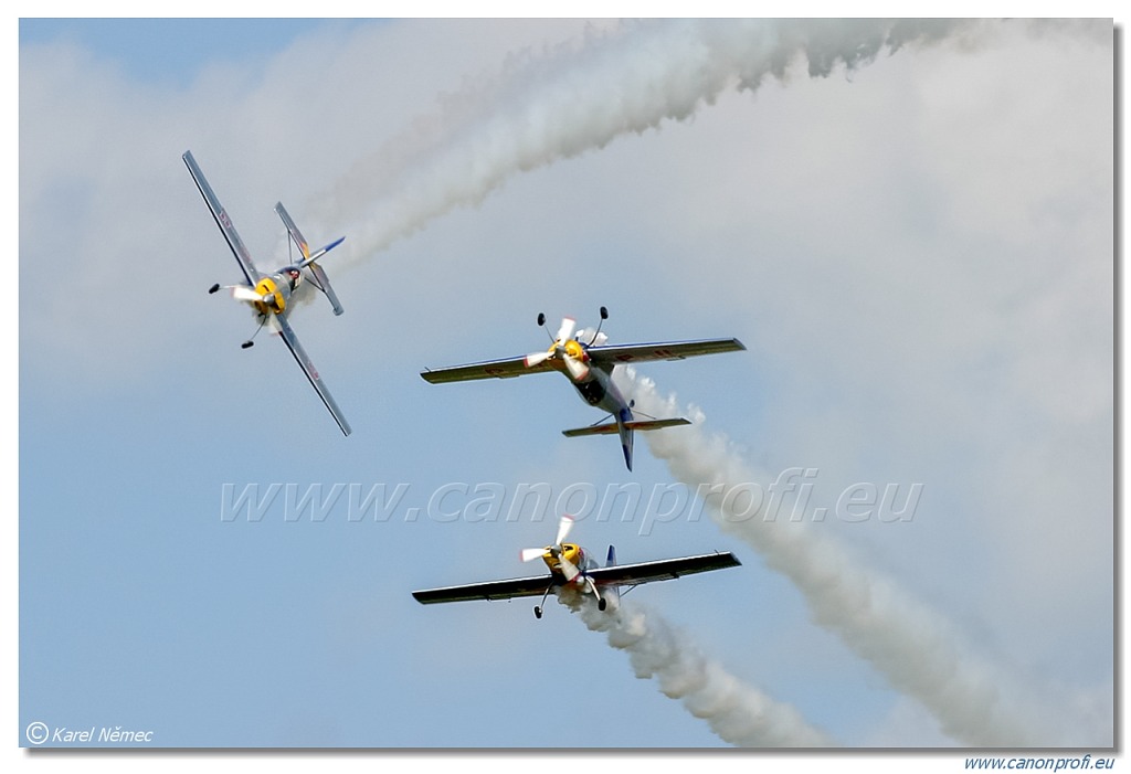
[[[608,310],[601,307],[601,321],[608,319]],[[538,325],[546,324],[546,315],[538,314]],[[613,421],[598,423],[588,427],[562,431],[567,437],[579,435],[611,435],[621,437],[621,449],[624,451],[624,464],[632,470],[632,432],[656,431],[662,427],[690,425],[682,417],[673,419],[637,419],[632,415],[632,401],[624,400],[621,391],[613,384],[613,368],[627,363],[644,363],[647,360],[682,360],[693,355],[711,355],[745,349],[737,339],[702,339],[699,341],[671,341],[662,343],[629,343],[605,346],[607,337],[601,332],[601,325],[594,333],[585,330],[575,336],[577,323],[572,318],[562,320],[558,336],[551,337],[550,349],[501,360],[485,360],[449,368],[426,369],[421,376],[432,384],[444,382],[466,382],[477,379],[510,379],[523,374],[539,374],[559,371],[570,380],[578,394],[589,406],[604,409]],[[547,331],[549,332],[549,331]]]

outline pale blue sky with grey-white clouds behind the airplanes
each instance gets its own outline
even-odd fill
[[[999,25],[752,90],[737,72],[761,52],[733,32],[20,25],[21,746],[36,721],[162,747],[727,746],[566,607],[412,600],[529,571],[518,550],[558,514],[508,520],[507,498],[538,482],[638,493],[575,532],[622,562],[737,554],[629,600],[836,745],[977,746],[962,707],[869,655],[898,643],[829,623],[793,571],[814,551],[873,600],[895,589],[888,612],[923,616],[908,636],[942,637],[1007,710],[1027,685],[1038,708],[1010,720],[1104,743],[1110,41]],[[351,437],[280,343],[241,350],[248,314],[205,293],[238,268],[185,149],[262,267],[285,255],[278,199],[311,241],[346,235],[326,263],[345,315],[316,299],[293,320]],[[613,441],[560,435],[598,419],[560,377],[418,376],[538,349],[537,312],[592,324],[602,304],[615,341],[746,343],[641,371],[705,415],[682,437],[729,441],[732,484],[814,471],[809,559],[783,569],[766,536],[785,532],[720,529],[693,498],[649,524],[648,498],[698,475],[680,460],[708,456],[638,438],[628,473]],[[916,484],[907,520],[844,506]],[[335,485],[323,519],[287,510]],[[231,493],[273,486],[261,518],[225,518]],[[387,519],[351,510],[397,490]]]

